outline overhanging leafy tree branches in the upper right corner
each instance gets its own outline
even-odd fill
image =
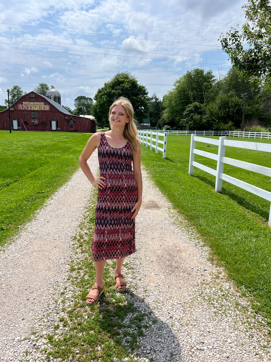
[[[270,85],[271,6],[269,0],[248,0],[243,6],[246,22],[242,29],[231,27],[221,34],[222,49],[242,75],[254,85],[265,81]]]

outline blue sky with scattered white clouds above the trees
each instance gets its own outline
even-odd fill
[[[219,37],[245,21],[246,0],[2,0],[0,104],[7,89],[52,85],[62,105],[94,98],[129,72],[162,99],[187,71],[230,69]]]

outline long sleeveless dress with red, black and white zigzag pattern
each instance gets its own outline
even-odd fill
[[[101,132],[98,159],[106,186],[98,188],[92,243],[95,262],[120,259],[135,252],[135,220],[131,219],[131,210],[137,202],[129,141],[122,148],[113,148]]]

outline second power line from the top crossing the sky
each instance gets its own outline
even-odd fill
[[[18,25],[18,24],[6,23],[6,22],[0,22],[0,24],[12,25],[12,26],[21,26],[21,27],[31,27],[31,28],[34,28],[34,29],[53,30],[53,31],[57,31],[57,32],[69,32],[69,33],[76,33],[76,34],[98,35],[98,36],[105,36],[105,37],[127,39],[127,37],[121,36],[121,35],[108,35],[108,34],[100,34],[100,33],[79,32],[79,31],[75,31],[75,30],[57,29],[57,28],[53,28],[53,27],[42,27],[42,26],[32,26],[32,25]],[[135,37],[129,37],[128,39],[155,41],[155,42],[160,42],[160,43],[162,42],[162,43],[171,43],[171,44],[187,44],[187,45],[197,45],[197,46],[208,46],[208,47],[214,47],[214,48],[221,48],[221,46],[218,46],[218,45],[196,44],[196,43],[186,43],[186,42],[158,40],[158,39],[145,39],[145,38],[135,38]]]

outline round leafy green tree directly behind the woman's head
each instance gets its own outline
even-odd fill
[[[128,72],[119,72],[104,87],[98,89],[94,99],[93,115],[99,126],[109,124],[109,107],[119,97],[128,98],[133,104],[135,118],[142,123],[148,112],[148,93],[144,86],[140,85],[137,79]]]

